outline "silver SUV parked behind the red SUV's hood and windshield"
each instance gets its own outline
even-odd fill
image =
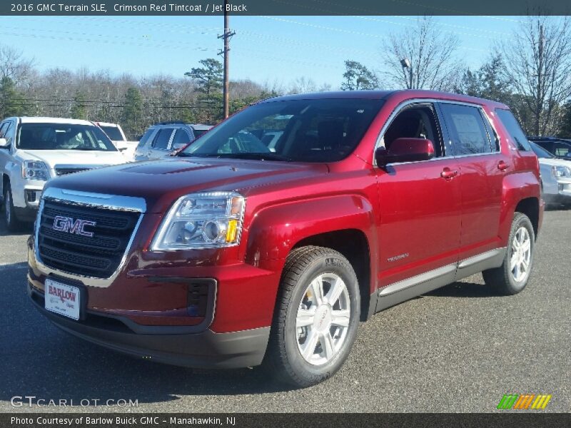
[[[212,126],[182,122],[161,122],[144,133],[135,151],[135,161],[148,161],[171,155],[208,131]]]

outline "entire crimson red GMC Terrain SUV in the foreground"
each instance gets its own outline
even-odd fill
[[[523,290],[544,204],[522,135],[449,93],[271,98],[171,159],[50,181],[29,295],[113,350],[315,384],[375,312],[476,272]]]

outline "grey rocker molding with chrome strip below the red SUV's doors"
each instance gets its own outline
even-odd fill
[[[375,312],[398,305],[413,297],[444,287],[482,270],[502,265],[507,248],[497,248],[415,277],[395,282],[378,290]]]

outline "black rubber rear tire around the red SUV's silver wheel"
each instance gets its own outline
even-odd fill
[[[510,262],[512,255],[514,254],[513,240],[515,234],[520,228],[527,229],[527,233],[530,237],[530,263],[524,277],[520,280],[515,280],[512,274]],[[527,215],[523,213],[515,213],[512,220],[512,228],[510,230],[510,238],[507,241],[507,251],[505,252],[505,257],[502,265],[496,267],[495,269],[489,269],[482,272],[484,277],[484,282],[486,285],[493,287],[501,295],[515,295],[521,292],[527,282],[530,280],[530,275],[533,269],[533,259],[535,253],[535,232],[531,224],[530,219]]]

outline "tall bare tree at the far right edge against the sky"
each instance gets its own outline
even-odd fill
[[[562,105],[571,96],[571,33],[567,17],[528,16],[497,46],[501,73],[530,112],[525,131],[557,133]]]

